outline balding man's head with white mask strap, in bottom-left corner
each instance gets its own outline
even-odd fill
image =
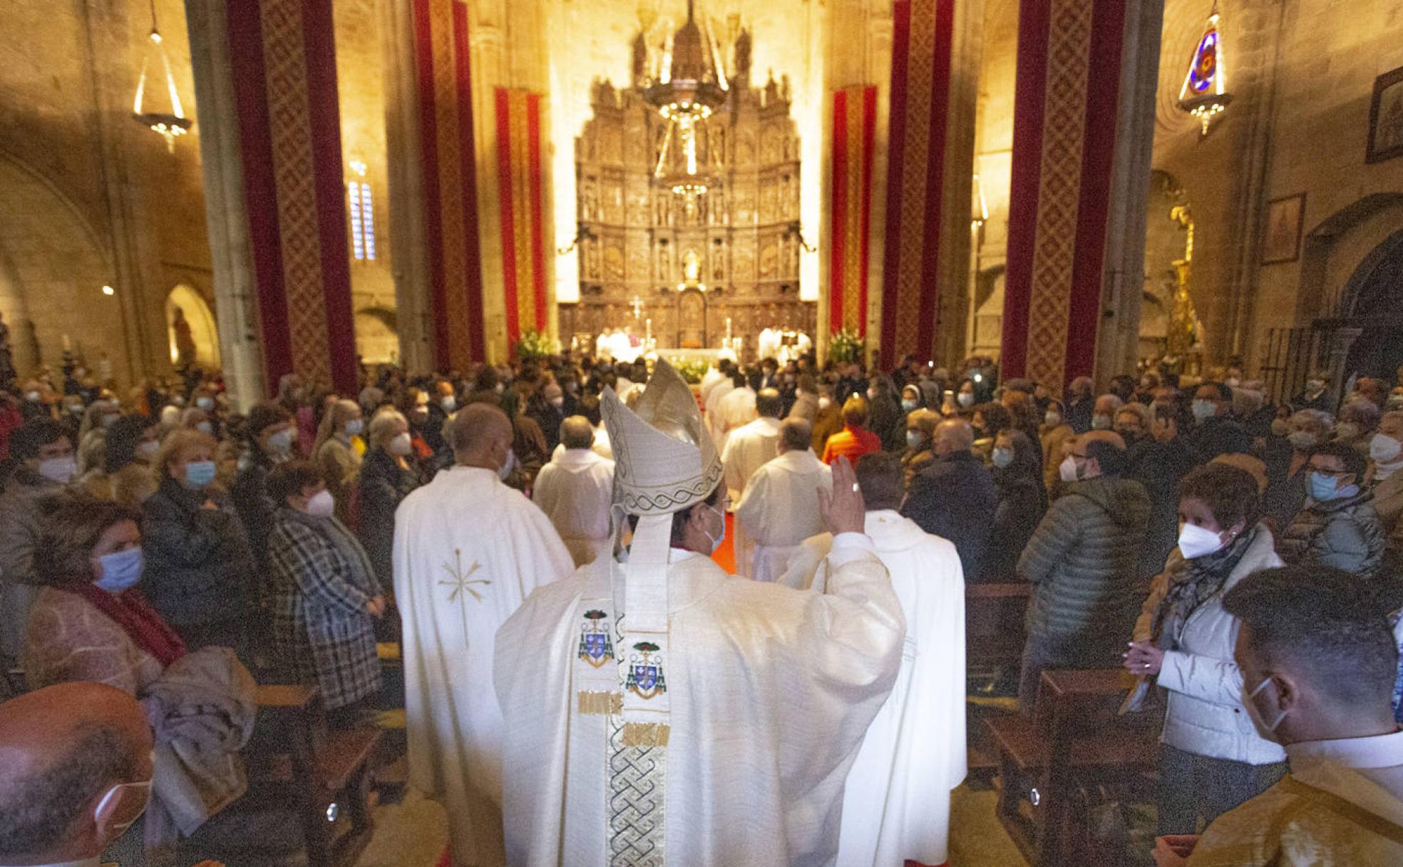
[[[101,683],[0,704],[0,864],[97,867],[146,809],[153,746],[142,706]]]

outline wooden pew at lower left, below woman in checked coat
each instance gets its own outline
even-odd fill
[[[260,686],[258,710],[246,797],[297,812],[309,867],[355,864],[375,831],[369,790],[384,732],[328,730],[310,686]],[[341,815],[348,821],[337,822]]]

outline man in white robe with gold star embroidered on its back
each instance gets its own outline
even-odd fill
[[[574,564],[546,513],[498,478],[511,421],[471,404],[446,434],[456,466],[394,513],[410,784],[443,804],[455,867],[495,867],[505,854],[492,637],[528,593]]]

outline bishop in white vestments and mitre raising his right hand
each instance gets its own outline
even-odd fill
[[[843,779],[904,636],[852,467],[825,504],[829,592],[797,592],[709,557],[721,462],[665,362],[637,412],[605,391],[605,424],[637,516],[627,563],[542,588],[497,634],[509,861],[832,864]]]

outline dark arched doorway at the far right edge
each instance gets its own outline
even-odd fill
[[[1403,366],[1403,230],[1374,248],[1344,285],[1340,313],[1360,328],[1345,358],[1345,376],[1388,380]]]

